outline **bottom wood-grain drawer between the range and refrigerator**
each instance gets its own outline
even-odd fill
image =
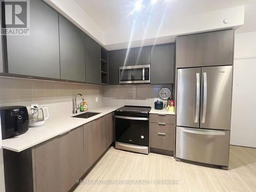
[[[150,146],[174,151],[174,135],[150,132]]]

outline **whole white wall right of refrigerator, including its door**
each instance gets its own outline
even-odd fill
[[[238,33],[234,72],[230,144],[256,147],[256,31]]]

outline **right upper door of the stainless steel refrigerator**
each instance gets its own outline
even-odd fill
[[[230,130],[232,66],[202,68],[200,128]]]

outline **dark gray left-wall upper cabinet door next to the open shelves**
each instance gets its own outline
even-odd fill
[[[86,35],[86,82],[100,84],[100,45]]]

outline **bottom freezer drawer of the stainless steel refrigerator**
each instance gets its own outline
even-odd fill
[[[176,157],[228,166],[229,131],[176,127]]]

